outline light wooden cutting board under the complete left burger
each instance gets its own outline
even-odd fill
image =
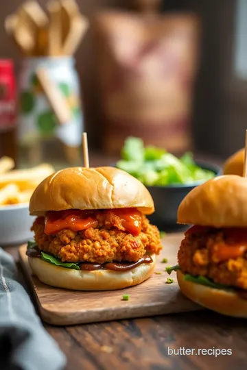
[[[19,257],[43,321],[54,325],[72,325],[130,319],[201,309],[180,293],[176,273],[170,275],[174,282],[166,284],[169,275],[165,267],[177,263],[176,254],[182,238],[183,234],[170,234],[163,238],[163,251],[156,260],[155,269],[161,275],[154,273],[142,284],[119,291],[67,291],[48,286],[32,275],[25,255],[26,245],[19,248]],[[163,258],[167,258],[167,264],[161,262]],[[121,300],[124,294],[130,295],[129,301]]]

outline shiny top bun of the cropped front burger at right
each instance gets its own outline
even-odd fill
[[[247,178],[222,175],[193,188],[180,203],[178,223],[247,227]]]

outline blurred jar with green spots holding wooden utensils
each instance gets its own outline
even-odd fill
[[[39,68],[45,69],[67,102],[71,117],[66,124],[60,125],[56,119],[36,77]],[[58,162],[58,167],[75,164],[80,158],[76,151],[82,144],[83,116],[74,59],[67,56],[26,58],[19,75],[19,94],[19,144],[25,149],[27,162],[48,160],[55,165]]]

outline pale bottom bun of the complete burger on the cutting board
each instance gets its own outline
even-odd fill
[[[32,272],[40,282],[74,291],[114,291],[141,284],[154,272],[156,255],[152,263],[143,263],[130,271],[95,270],[81,271],[58,267],[41,258],[29,257]]]

